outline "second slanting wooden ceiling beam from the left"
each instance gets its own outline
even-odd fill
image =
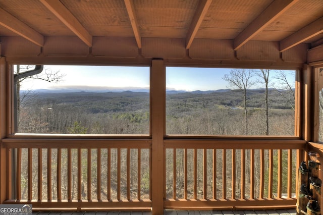
[[[51,13],[59,18],[87,46],[92,46],[92,36],[59,0],[39,0]]]

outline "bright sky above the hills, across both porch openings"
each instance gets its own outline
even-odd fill
[[[58,83],[29,79],[21,84],[21,89],[149,89],[149,67],[45,65],[44,70],[60,71],[64,77]],[[167,67],[166,87],[169,90],[185,91],[227,89],[228,83],[223,80],[223,77],[231,70]],[[295,77],[290,78],[291,82],[295,81]]]

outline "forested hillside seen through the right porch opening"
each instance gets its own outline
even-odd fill
[[[269,135],[294,135],[294,106],[282,94],[268,92]],[[169,94],[168,134],[243,135],[243,97],[239,90]],[[250,135],[265,135],[264,89],[247,91]]]

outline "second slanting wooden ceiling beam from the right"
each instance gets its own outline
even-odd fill
[[[290,9],[296,2],[298,0],[275,0],[234,39],[233,49],[239,49],[268,24]]]

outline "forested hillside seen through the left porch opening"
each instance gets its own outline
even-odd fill
[[[147,92],[36,92],[24,97],[18,130],[22,133],[149,132]]]

